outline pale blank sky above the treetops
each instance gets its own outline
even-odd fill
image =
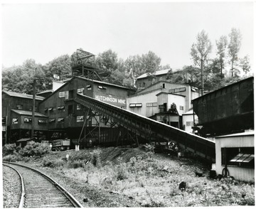
[[[4,67],[28,58],[44,65],[82,48],[95,55],[112,49],[124,60],[151,50],[161,65],[181,68],[193,64],[191,45],[199,32],[208,33],[215,57],[215,41],[231,28],[242,33],[239,57],[249,55],[253,66],[253,1],[8,2],[1,2]]]

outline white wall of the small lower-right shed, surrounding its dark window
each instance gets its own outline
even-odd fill
[[[232,134],[230,136],[218,136],[215,138],[216,173],[222,174],[225,166],[221,165],[221,148],[224,147],[254,147],[254,132]],[[228,166],[229,175],[240,181],[255,181],[254,168],[241,168]]]

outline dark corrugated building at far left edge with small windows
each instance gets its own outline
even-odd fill
[[[45,120],[46,116],[38,112],[39,102],[44,97],[36,96],[35,119]],[[2,139],[3,144],[12,143],[31,135],[33,95],[2,91]],[[43,123],[36,123],[35,131],[45,131]]]

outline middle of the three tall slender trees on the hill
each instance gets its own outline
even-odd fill
[[[225,51],[228,46],[228,38],[226,36],[220,36],[220,39],[216,41],[217,55],[220,63],[220,77],[223,77]]]

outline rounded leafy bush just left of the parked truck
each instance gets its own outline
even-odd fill
[[[21,156],[42,156],[43,154],[48,154],[49,152],[50,146],[34,141],[29,141],[23,149],[18,151]]]

